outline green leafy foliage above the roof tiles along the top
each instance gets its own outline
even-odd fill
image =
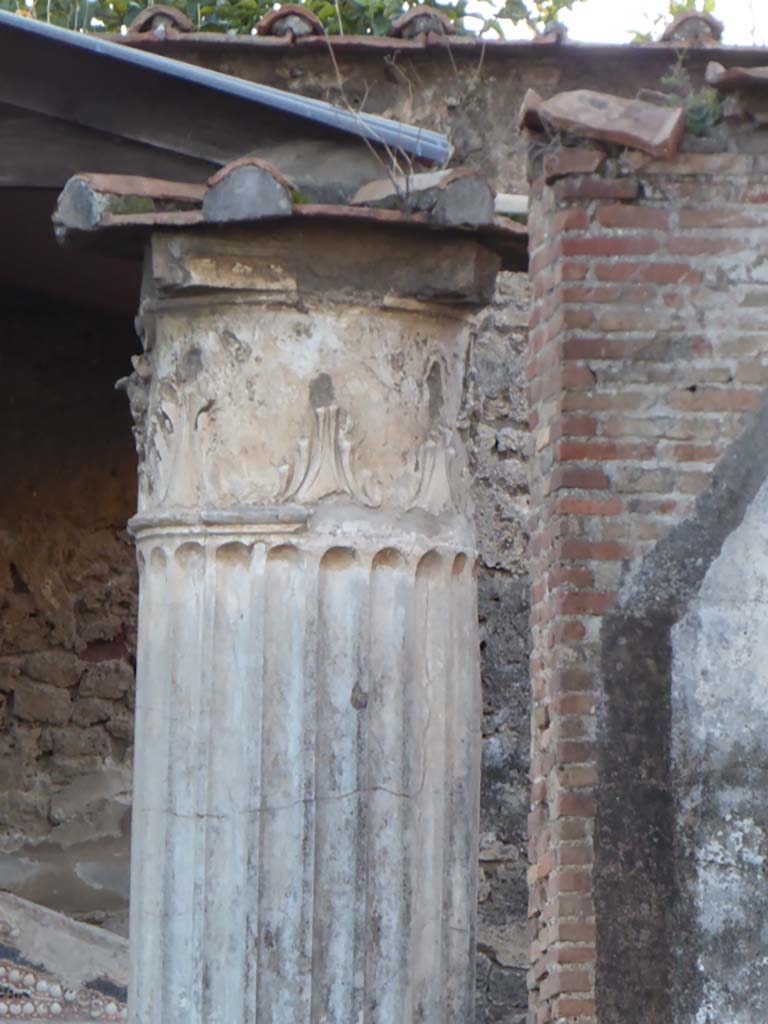
[[[171,0],[191,19],[198,32],[252,33],[261,17],[272,9],[272,0]],[[390,23],[418,0],[304,0],[305,6],[333,34],[383,35]],[[463,31],[467,0],[426,0]],[[502,34],[500,20],[524,22],[532,32],[554,22],[561,10],[577,0],[506,0],[486,26]],[[0,9],[15,11],[66,29],[89,32],[120,32],[148,7],[151,0],[0,0]]]

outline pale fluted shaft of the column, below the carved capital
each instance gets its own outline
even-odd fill
[[[471,561],[232,532],[139,564],[134,1020],[466,1022]]]

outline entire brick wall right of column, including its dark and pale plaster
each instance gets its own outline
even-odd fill
[[[761,913],[736,907],[766,749],[734,709],[764,715],[765,683],[729,683],[765,671],[759,551],[743,614],[722,607],[768,469],[768,161],[573,156],[535,164],[530,221],[534,1008],[758,1024],[735,961],[765,955]]]

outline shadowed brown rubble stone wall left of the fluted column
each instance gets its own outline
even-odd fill
[[[130,323],[3,297],[0,887],[124,927],[135,457]]]

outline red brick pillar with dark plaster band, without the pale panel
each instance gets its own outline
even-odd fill
[[[529,219],[531,1019],[659,1024],[679,612],[663,544],[695,524],[768,377],[765,160],[626,154],[568,175],[562,154],[532,167]]]

